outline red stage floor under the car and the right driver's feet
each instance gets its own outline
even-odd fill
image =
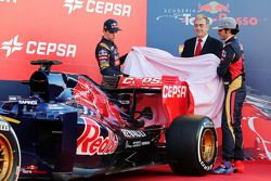
[[[101,176],[83,181],[271,181],[271,161],[245,161],[244,173],[227,176],[207,174],[205,177],[176,176],[167,165],[153,166],[142,170],[122,172],[111,176]],[[80,180],[81,181],[81,180]]]

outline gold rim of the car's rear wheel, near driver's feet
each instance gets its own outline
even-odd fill
[[[204,163],[209,163],[215,157],[216,140],[214,132],[206,129],[201,141],[201,155]]]

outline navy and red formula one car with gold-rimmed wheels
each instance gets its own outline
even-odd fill
[[[169,164],[178,174],[203,176],[217,156],[215,125],[193,115],[185,81],[51,72],[40,65],[30,96],[0,104],[0,180],[69,180]]]

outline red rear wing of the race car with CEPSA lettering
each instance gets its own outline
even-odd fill
[[[143,95],[138,94],[137,99],[139,105],[137,108],[151,106],[156,107],[158,115],[162,116],[159,111],[164,111],[166,116],[166,122],[162,121],[163,118],[159,116],[159,120],[156,124],[165,124],[169,127],[171,121],[180,115],[193,114],[194,113],[194,101],[190,92],[189,85],[185,81],[180,81],[177,76],[163,76],[162,78],[133,78],[133,77],[121,77],[118,83],[118,89],[134,89],[134,90],[149,90]],[[160,91],[159,94],[149,94],[152,92]],[[142,98],[143,96],[143,98]],[[147,98],[147,96],[153,96]],[[162,106],[162,109],[159,107]]]

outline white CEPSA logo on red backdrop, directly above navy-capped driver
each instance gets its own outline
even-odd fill
[[[131,15],[132,7],[129,4],[114,3],[102,0],[64,0],[65,8],[68,8],[68,14],[72,14],[75,10],[85,9],[87,13],[96,14],[109,14],[115,16]]]

